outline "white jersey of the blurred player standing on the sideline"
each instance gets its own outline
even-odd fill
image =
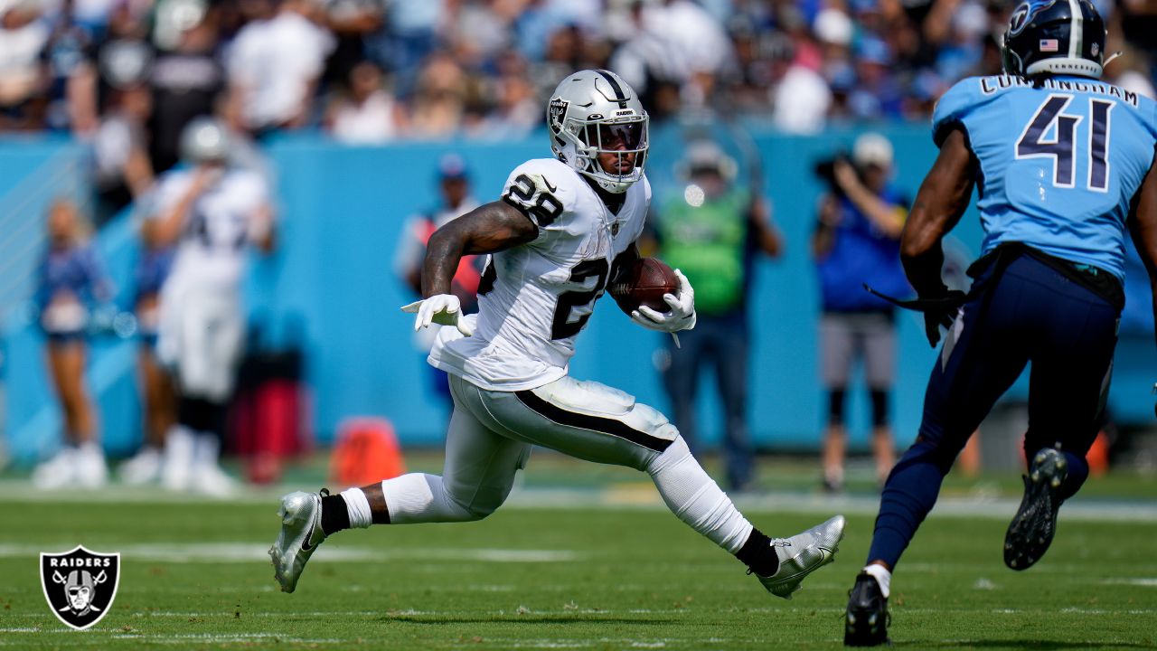
[[[169,171],[157,182],[149,205],[150,219],[172,209],[189,191],[193,170]],[[224,291],[239,287],[245,271],[245,248],[268,203],[265,178],[246,169],[229,169],[185,215],[169,283]],[[265,215],[268,218],[268,215]]]

